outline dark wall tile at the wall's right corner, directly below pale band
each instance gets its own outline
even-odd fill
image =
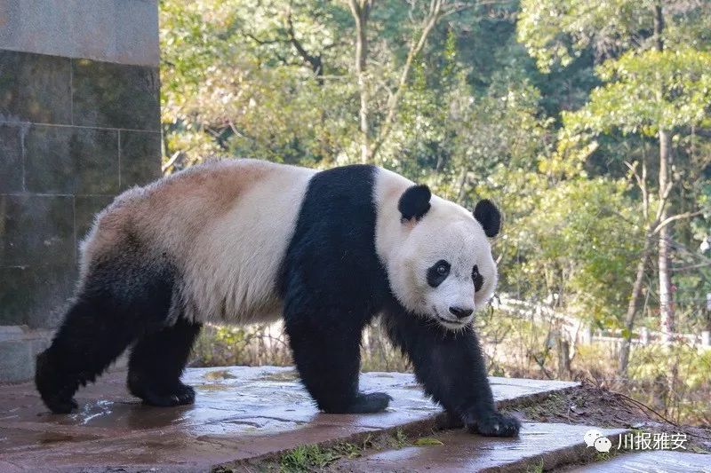
[[[72,59],[74,123],[159,130],[157,67]]]

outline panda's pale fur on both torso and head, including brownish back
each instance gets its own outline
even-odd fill
[[[100,213],[82,245],[81,280],[92,262],[139,240],[150,266],[171,258],[181,286],[174,309],[196,321],[249,324],[277,319],[276,280],[292,240],[313,169],[253,160],[212,162],[132,189]],[[376,249],[399,302],[444,327],[464,327],[449,307],[480,308],[496,286],[496,265],[482,226],[471,212],[433,196],[419,222],[402,223],[397,202],[413,183],[378,169],[371,197],[377,210]],[[440,259],[451,275],[438,288],[427,268]],[[156,263],[157,264],[157,263]],[[483,275],[475,294],[471,271]],[[81,282],[80,282],[81,284]],[[172,311],[172,319],[179,313]]]

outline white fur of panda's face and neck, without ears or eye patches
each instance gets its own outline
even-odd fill
[[[473,315],[457,319],[449,308],[481,309],[491,299],[497,282],[491,245],[469,210],[435,195],[424,217],[403,223],[397,202],[411,185],[408,179],[379,169],[374,189],[378,256],[405,309],[450,329],[466,327]],[[451,264],[451,273],[432,288],[427,284],[427,268],[442,259]],[[471,278],[475,264],[484,279],[478,292]]]

